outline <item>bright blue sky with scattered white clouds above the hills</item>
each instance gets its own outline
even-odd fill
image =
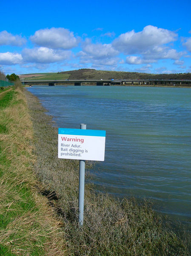
[[[2,1],[0,69],[191,72],[191,1]]]

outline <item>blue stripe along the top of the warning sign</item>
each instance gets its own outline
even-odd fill
[[[84,129],[58,128],[58,134],[105,137],[105,131],[103,131],[103,130],[84,130]]]

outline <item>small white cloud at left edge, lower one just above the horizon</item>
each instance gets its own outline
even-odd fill
[[[0,64],[2,65],[16,65],[22,63],[23,58],[19,53],[1,52]]]

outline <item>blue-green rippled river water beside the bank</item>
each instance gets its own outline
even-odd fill
[[[191,89],[33,86],[60,128],[105,130],[105,161],[91,170],[98,191],[154,201],[191,223]]]

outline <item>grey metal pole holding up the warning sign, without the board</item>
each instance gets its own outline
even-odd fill
[[[80,129],[86,130],[86,124],[80,124]],[[85,160],[80,160],[79,169],[79,217],[78,222],[83,226],[83,206],[84,206],[84,183],[85,183]]]

